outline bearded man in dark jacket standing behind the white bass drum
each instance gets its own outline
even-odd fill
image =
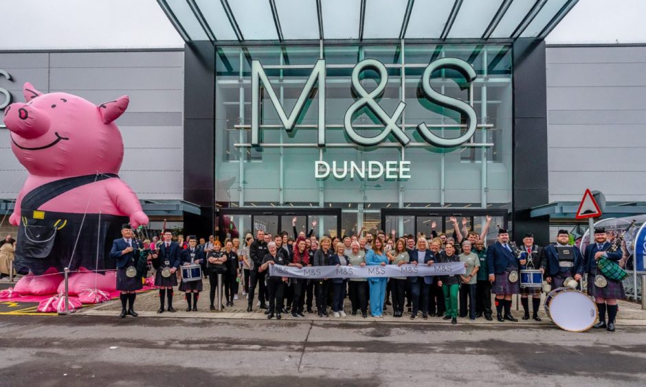
[[[580,281],[585,269],[583,256],[578,248],[570,246],[570,233],[567,230],[559,230],[556,243],[545,248],[541,268],[547,273],[546,281],[553,289],[563,288],[568,277],[579,282],[577,289],[581,289]]]

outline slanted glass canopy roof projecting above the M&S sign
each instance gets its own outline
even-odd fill
[[[578,0],[158,0],[186,41],[543,39]]]

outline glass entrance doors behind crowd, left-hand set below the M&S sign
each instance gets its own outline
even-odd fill
[[[296,219],[296,233],[338,236],[341,231],[341,209],[220,209],[217,216],[218,237],[243,238],[247,233],[256,236],[257,230],[276,235],[287,231],[294,237],[292,222]]]

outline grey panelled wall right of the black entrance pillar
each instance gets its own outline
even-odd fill
[[[546,49],[550,202],[646,201],[646,46]]]

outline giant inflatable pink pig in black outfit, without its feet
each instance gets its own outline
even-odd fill
[[[67,93],[42,94],[30,83],[26,103],[5,109],[12,150],[29,176],[11,224],[19,226],[15,265],[115,268],[109,251],[123,223],[148,224],[137,196],[119,176],[123,141],[114,120],[126,96],[100,105]]]

